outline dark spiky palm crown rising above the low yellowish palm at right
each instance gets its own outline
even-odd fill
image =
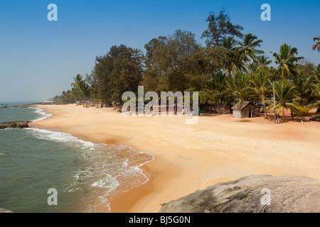
[[[294,70],[297,67],[297,61],[304,59],[304,57],[296,57],[295,55],[298,54],[297,48],[291,48],[291,45],[287,45],[284,43],[280,47],[279,54],[273,53],[273,56],[276,58],[274,60],[279,67],[275,72],[281,71],[281,79],[289,78],[290,74],[296,75],[297,72]]]

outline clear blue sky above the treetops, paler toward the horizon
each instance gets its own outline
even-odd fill
[[[58,6],[58,21],[47,19],[51,3]],[[272,21],[260,19],[265,3]],[[177,29],[196,33],[204,43],[200,37],[208,14],[223,7],[244,33],[264,41],[266,55],[288,43],[320,64],[320,52],[311,50],[314,35],[320,35],[315,1],[0,0],[0,101],[41,101],[60,94],[76,74],[90,74],[95,57],[112,45],[144,51],[149,40]]]

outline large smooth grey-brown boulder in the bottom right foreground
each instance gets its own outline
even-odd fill
[[[302,176],[252,175],[163,204],[161,213],[320,212],[320,181]]]

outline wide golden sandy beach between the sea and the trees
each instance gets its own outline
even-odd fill
[[[37,107],[53,116],[31,127],[56,129],[96,143],[129,145],[155,156],[142,167],[149,182],[110,198],[113,212],[158,212],[161,204],[197,189],[248,175],[320,179],[319,122],[274,124],[263,116],[213,114],[186,125],[185,116],[125,117],[112,108],[75,104]],[[103,206],[95,210],[103,211]]]

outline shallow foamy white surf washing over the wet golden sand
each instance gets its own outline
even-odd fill
[[[39,140],[63,143],[80,150],[78,158],[81,167],[73,173],[73,181],[65,184],[63,191],[84,192],[83,200],[92,209],[103,206],[112,211],[108,196],[127,192],[149,181],[140,167],[154,160],[154,155],[150,153],[138,152],[126,145],[95,144],[69,133],[39,128],[25,129]]]

